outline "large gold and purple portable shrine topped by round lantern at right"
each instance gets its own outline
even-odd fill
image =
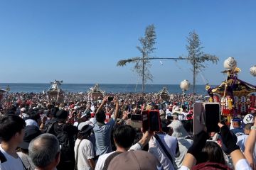
[[[241,71],[233,57],[229,57],[224,62],[227,78],[219,86],[211,88],[206,85],[206,90],[210,96],[210,102],[220,103],[222,115],[231,116],[246,115],[250,109],[256,107],[255,93],[256,86],[238,79]],[[252,72],[251,72],[252,73]]]

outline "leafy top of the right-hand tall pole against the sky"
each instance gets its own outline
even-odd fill
[[[204,62],[210,61],[213,64],[217,64],[219,60],[218,57],[202,51],[204,47],[201,47],[201,41],[196,31],[193,30],[189,33],[187,41],[188,45],[186,45],[186,49],[188,50],[188,62],[190,62],[192,66],[195,66],[196,73],[201,69],[206,68],[206,64]]]

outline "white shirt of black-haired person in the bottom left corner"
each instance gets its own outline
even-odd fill
[[[0,150],[4,154],[4,157],[6,157],[6,162],[0,164],[0,169],[1,170],[23,170],[23,164],[21,162],[21,159],[14,158],[10,154],[4,151],[4,149],[0,145]]]

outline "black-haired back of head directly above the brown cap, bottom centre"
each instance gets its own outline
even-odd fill
[[[130,125],[119,125],[114,130],[114,141],[119,147],[128,149],[132,146],[136,136],[136,131]]]

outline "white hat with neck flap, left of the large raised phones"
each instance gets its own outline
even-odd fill
[[[188,132],[183,127],[180,120],[174,120],[168,127],[174,130],[172,137],[176,137],[178,140],[182,140],[188,136]]]

